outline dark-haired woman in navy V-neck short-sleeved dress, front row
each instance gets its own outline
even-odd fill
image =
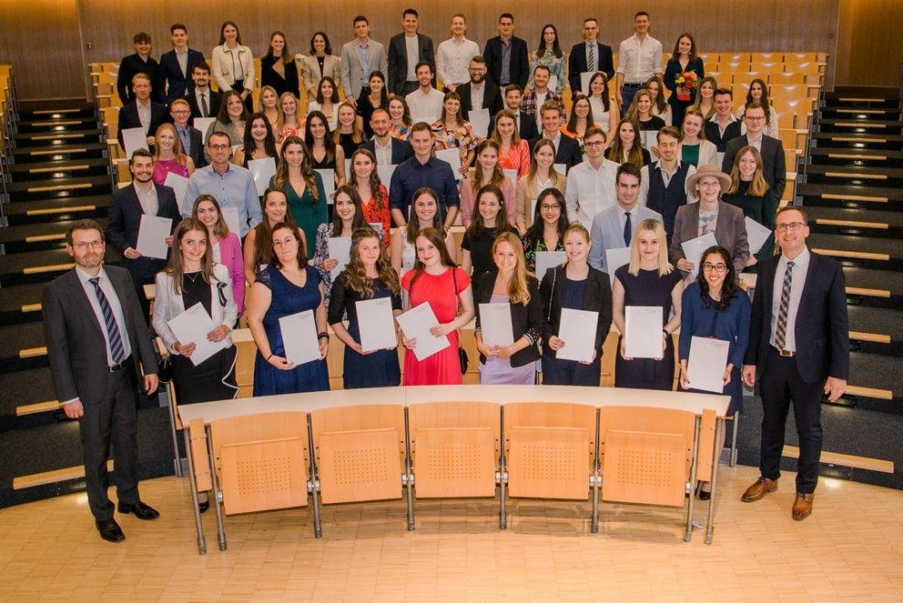
[[[297,228],[278,224],[273,226],[272,238],[269,266],[258,273],[248,299],[248,326],[257,344],[254,396],[328,390],[330,336],[320,273],[308,265]],[[320,359],[295,365],[285,357],[279,318],[306,310],[314,313]]]

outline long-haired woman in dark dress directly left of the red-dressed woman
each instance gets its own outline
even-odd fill
[[[329,321],[332,331],[345,344],[345,389],[395,387],[401,383],[401,369],[395,347],[363,351],[357,304],[380,297],[391,300],[392,317],[401,314],[401,286],[389,262],[380,236],[369,226],[351,235],[350,262],[332,284]],[[348,327],[342,316],[348,313]],[[396,330],[398,329],[396,325]]]

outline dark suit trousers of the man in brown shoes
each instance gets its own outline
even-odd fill
[[[782,357],[775,347],[768,347],[762,368],[762,441],[759,470],[762,477],[777,479],[781,475],[781,454],[787,412],[793,402],[799,458],[796,461],[796,491],[810,494],[818,483],[818,460],[821,457],[821,397],[824,382],[806,383],[799,377],[796,357]]]

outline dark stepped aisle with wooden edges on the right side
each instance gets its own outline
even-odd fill
[[[850,321],[847,395],[838,405],[822,407],[825,451],[832,453],[822,456],[823,475],[903,488],[903,116],[898,92],[838,88],[827,93],[814,116],[808,151],[798,169],[796,200],[809,216],[809,245],[844,266]],[[740,462],[756,464],[757,400],[746,404],[745,419],[740,421]],[[796,445],[792,417],[787,443]],[[787,457],[785,464],[796,466]]]

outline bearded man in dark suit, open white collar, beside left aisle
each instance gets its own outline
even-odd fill
[[[176,194],[168,186],[153,181],[154,157],[144,149],[138,149],[129,159],[128,170],[132,184],[120,188],[113,195],[107,214],[107,239],[122,256],[123,265],[137,287],[142,316],[147,321],[150,302],[144,295],[144,286],[154,282],[157,272],[166,267],[166,258],[142,256],[137,251],[138,229],[141,216],[166,217],[172,220],[170,234],[181,221]],[[168,243],[169,241],[167,241]]]

